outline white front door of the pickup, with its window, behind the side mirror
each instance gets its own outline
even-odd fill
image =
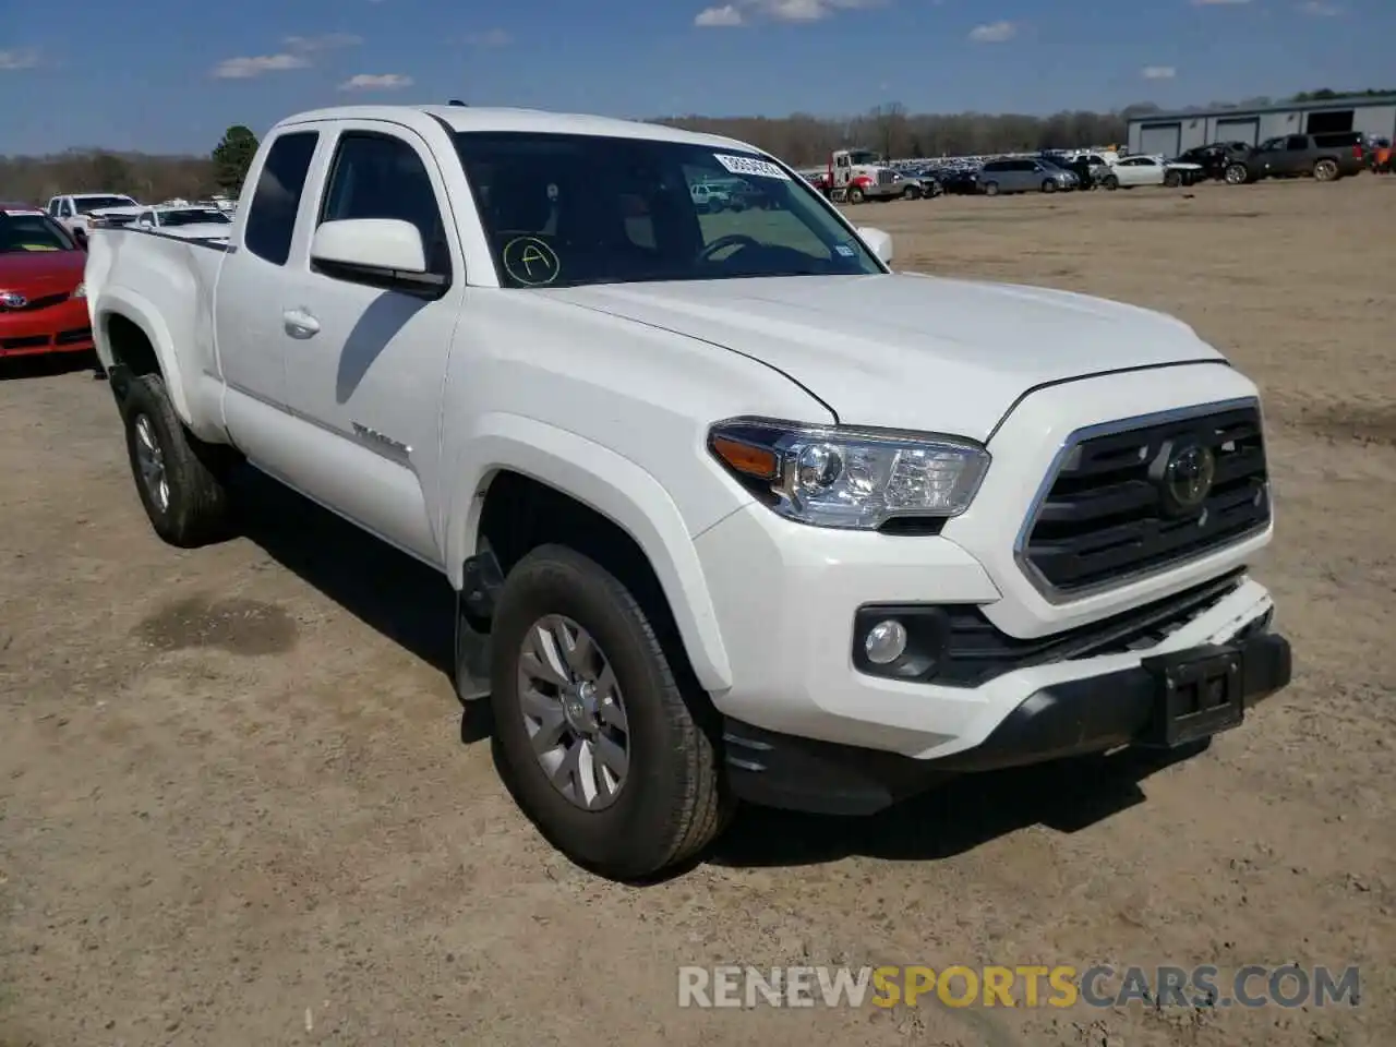
[[[459,237],[427,142],[399,124],[336,121],[310,233],[281,288],[286,402],[322,447],[311,497],[437,567],[441,396],[465,296]],[[318,271],[314,229],[391,218],[422,233],[445,293],[423,299]]]

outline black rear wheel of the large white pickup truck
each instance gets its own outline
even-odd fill
[[[128,381],[121,419],[131,476],[155,533],[180,549],[226,537],[232,504],[223,477],[230,452],[184,427],[158,374]]]

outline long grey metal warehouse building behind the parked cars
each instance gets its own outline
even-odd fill
[[[1362,131],[1396,138],[1396,95],[1325,98],[1256,109],[1198,109],[1191,113],[1149,113],[1129,121],[1129,152],[1177,156],[1212,142],[1258,145],[1282,134]]]

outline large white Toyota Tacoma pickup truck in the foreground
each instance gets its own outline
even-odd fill
[[[727,177],[769,207],[698,214]],[[521,807],[634,878],[737,800],[1189,752],[1289,683],[1255,385],[891,257],[738,141],[355,107],[267,135],[226,243],[99,230],[87,286],[155,530],[228,533],[250,463],[440,570]]]

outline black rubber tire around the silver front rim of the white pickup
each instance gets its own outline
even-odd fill
[[[560,699],[526,697],[521,670],[537,662],[525,659],[524,645],[544,621],[585,630],[616,684],[614,702],[597,701],[602,691],[588,697],[596,702],[589,729],[606,733],[613,752],[624,743],[628,759],[610,794],[585,775],[596,793],[591,810],[554,786],[525,722],[525,708],[546,705],[563,725],[551,737],[582,737],[563,719]],[[702,706],[695,712],[685,698],[644,607],[614,575],[564,546],[540,546],[505,578],[490,635],[496,751],[515,801],[554,847],[599,875],[634,881],[691,859],[722,832],[733,803],[716,732],[701,726]],[[624,730],[604,726],[617,708]],[[567,780],[574,794],[585,792],[582,778]]]

